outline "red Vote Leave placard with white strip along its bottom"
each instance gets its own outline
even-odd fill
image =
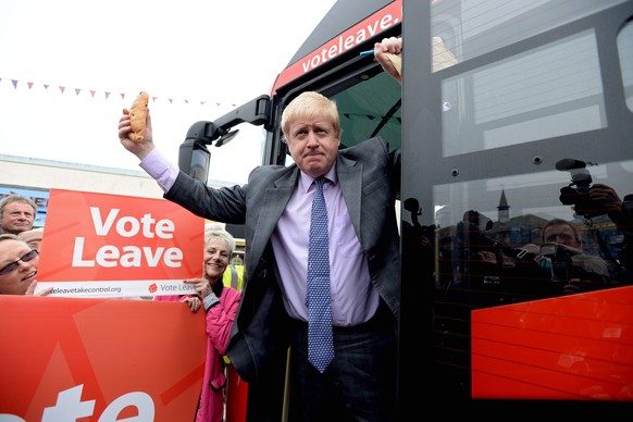
[[[204,221],[164,199],[51,189],[37,290],[58,297],[194,293]]]

